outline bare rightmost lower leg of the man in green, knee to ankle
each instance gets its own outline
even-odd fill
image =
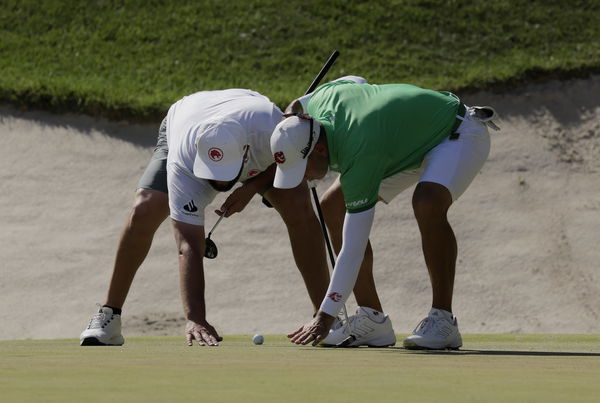
[[[452,312],[457,255],[456,238],[447,218],[452,195],[442,185],[421,182],[412,203],[431,280],[432,307]]]

